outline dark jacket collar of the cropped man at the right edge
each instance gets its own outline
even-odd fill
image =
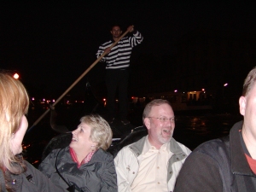
[[[239,130],[241,130],[243,121],[233,125],[230,131],[230,155],[231,155],[231,171],[238,175],[255,176],[247,163],[246,156],[241,147]]]

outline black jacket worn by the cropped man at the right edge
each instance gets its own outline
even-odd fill
[[[229,137],[195,148],[179,172],[174,191],[256,191],[256,176],[241,146],[241,127],[242,121],[232,127]]]

